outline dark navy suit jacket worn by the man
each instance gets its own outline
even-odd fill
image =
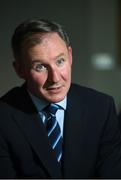
[[[0,101],[0,178],[121,178],[121,138],[111,97],[71,85],[61,168],[25,85]]]

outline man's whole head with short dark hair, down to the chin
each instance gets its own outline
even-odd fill
[[[48,20],[20,24],[12,37],[14,67],[29,91],[49,102],[59,102],[71,83],[72,50],[63,28]]]

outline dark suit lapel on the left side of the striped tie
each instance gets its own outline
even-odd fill
[[[52,153],[46,130],[25,89],[22,96],[25,98],[25,104],[24,102],[19,103],[19,109],[16,114],[14,113],[14,118],[39,160],[43,163],[47,173],[52,178],[61,178],[60,167]]]

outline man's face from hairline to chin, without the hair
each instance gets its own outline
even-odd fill
[[[72,51],[57,33],[48,33],[41,43],[25,47],[22,61],[15,69],[32,94],[53,103],[64,99],[71,83]]]

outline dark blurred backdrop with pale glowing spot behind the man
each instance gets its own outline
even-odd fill
[[[12,67],[10,40],[28,18],[61,23],[73,48],[72,80],[114,97],[121,109],[120,0],[1,0],[0,96],[22,83]]]

